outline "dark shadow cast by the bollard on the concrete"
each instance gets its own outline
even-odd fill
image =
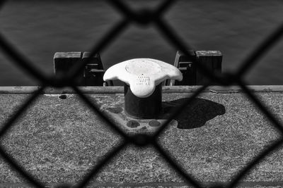
[[[174,101],[163,102],[163,118],[168,117],[181,104],[184,104],[188,98],[177,99]],[[212,120],[216,115],[223,115],[226,112],[222,104],[207,99],[196,98],[190,105],[183,109],[182,113],[174,119],[178,121],[180,129],[194,129],[202,127],[208,120]]]

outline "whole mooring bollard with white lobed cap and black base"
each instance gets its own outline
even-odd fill
[[[125,83],[125,111],[134,118],[151,119],[161,113],[162,82],[182,80],[183,75],[173,65],[151,58],[135,58],[113,65],[103,80]]]

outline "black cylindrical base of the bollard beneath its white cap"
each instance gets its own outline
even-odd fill
[[[124,84],[125,111],[129,116],[139,119],[157,118],[162,108],[162,83],[156,85],[154,93],[146,98],[135,96],[129,85]]]

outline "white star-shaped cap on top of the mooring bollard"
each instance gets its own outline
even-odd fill
[[[129,84],[135,96],[150,96],[156,87],[166,79],[181,81],[183,75],[173,65],[152,58],[134,58],[112,65],[106,70],[103,80],[121,80]]]

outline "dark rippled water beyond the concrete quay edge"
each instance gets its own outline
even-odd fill
[[[127,1],[154,8],[161,1]],[[236,70],[267,35],[283,23],[283,1],[178,1],[168,23],[195,50],[219,50],[223,70]],[[106,1],[8,1],[0,11],[0,31],[44,73],[53,73],[56,51],[88,51],[122,19]],[[154,27],[132,25],[101,51],[103,65],[130,58],[173,63],[175,52]],[[0,51],[0,85],[35,85]],[[283,84],[283,39],[248,72],[249,84]]]

